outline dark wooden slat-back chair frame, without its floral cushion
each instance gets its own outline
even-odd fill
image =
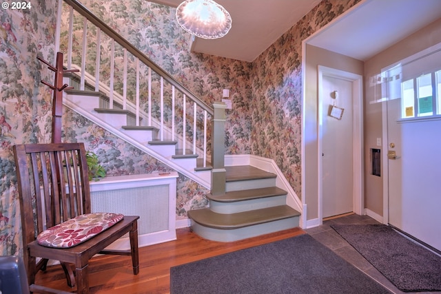
[[[49,248],[36,241],[37,235],[45,229],[91,212],[83,143],[15,145],[13,151],[20,196],[23,260],[31,291],[37,271],[44,270],[49,259],[61,262],[68,284],[74,286],[76,281],[78,293],[88,293],[88,260],[96,253],[132,255],[134,274],[139,273],[138,216],[124,216],[110,229],[69,249]],[[130,233],[129,251],[105,252],[106,246],[126,233]],[[37,263],[38,257],[42,260]],[[65,263],[75,264],[76,277]]]

